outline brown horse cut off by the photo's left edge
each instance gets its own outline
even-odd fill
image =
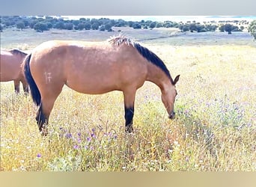
[[[0,81],[8,82],[14,81],[14,89],[16,93],[19,93],[19,82],[22,82],[23,91],[28,93],[28,83],[25,80],[25,76],[22,73],[22,61],[27,54],[17,49],[10,51],[1,50],[0,60]]]

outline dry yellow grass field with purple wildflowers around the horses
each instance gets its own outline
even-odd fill
[[[1,47],[29,51],[43,40],[106,40],[116,33],[63,32],[3,32]],[[159,88],[145,82],[135,98],[135,133],[126,135],[121,92],[95,96],[64,87],[42,138],[31,97],[1,82],[0,171],[256,171],[252,37],[125,33],[165,61],[173,78],[180,74],[176,118],[168,119]]]

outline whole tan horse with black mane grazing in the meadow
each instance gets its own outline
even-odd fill
[[[39,105],[37,125],[45,134],[49,114],[64,85],[80,93],[123,91],[126,132],[132,132],[135,92],[145,81],[162,91],[162,102],[171,119],[177,95],[165,64],[149,49],[126,37],[109,41],[53,40],[40,44],[25,58],[24,73],[31,96]]]

